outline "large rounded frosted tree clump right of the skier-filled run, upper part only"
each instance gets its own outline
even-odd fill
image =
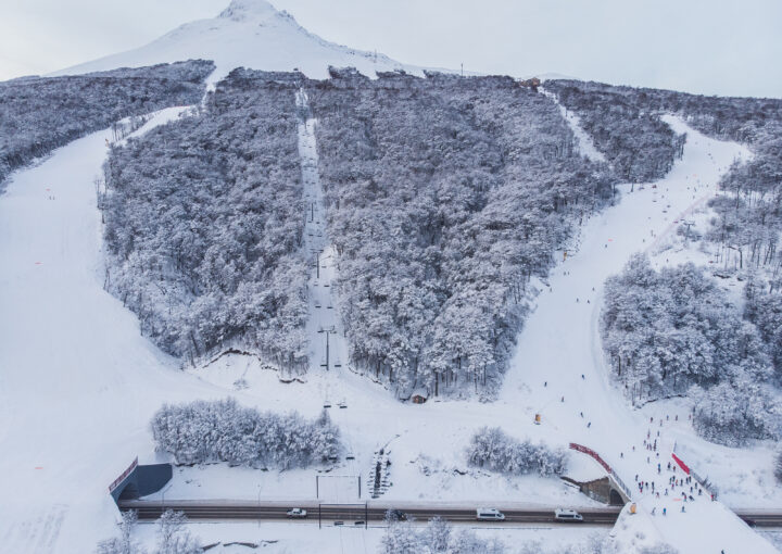
[[[601,320],[614,376],[634,403],[771,375],[757,328],[693,264],[656,272],[633,256],[606,280]]]

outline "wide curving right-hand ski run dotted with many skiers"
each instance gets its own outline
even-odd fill
[[[745,148],[709,139],[677,117],[668,116],[666,122],[677,133],[688,134],[682,160],[652,186],[636,187],[634,192],[623,186],[618,205],[588,222],[578,250],[568,252],[567,261],[553,272],[550,290],[540,294],[519,336],[501,399],[517,406],[527,421],[541,414],[535,432],[542,438],[559,437],[596,450],[631,488],[636,480],[657,482],[661,498],[635,488],[633,500],[643,513],[623,517],[617,528],[627,552],[644,543],[633,539],[636,532],[647,534],[647,544],[665,540],[682,554],[720,549],[775,552],[721,503],[708,502],[708,494],[688,503],[686,513],[680,512],[681,487],[663,495],[672,475],[667,470],[671,449],[682,437],[674,416],[684,420],[686,414],[670,414],[670,420],[660,423],[659,415],[649,420],[646,410],[632,410],[609,382],[603,357],[598,318],[605,279],[621,270],[631,254],[671,232],[674,219],[714,196],[719,177],[735,159],[749,156]],[[647,451],[646,440],[655,441],[656,450]],[[677,477],[682,477],[681,471]],[[653,508],[660,514],[664,507],[665,519],[649,516]]]

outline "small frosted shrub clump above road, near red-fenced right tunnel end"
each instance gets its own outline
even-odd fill
[[[467,462],[506,475],[563,475],[567,469],[567,451],[533,444],[529,439],[519,441],[499,427],[483,427],[470,439]]]

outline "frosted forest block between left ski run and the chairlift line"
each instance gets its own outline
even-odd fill
[[[168,353],[237,344],[306,368],[299,77],[236,70],[105,163],[106,288]]]

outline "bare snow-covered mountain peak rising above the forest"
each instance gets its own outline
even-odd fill
[[[387,55],[354,50],[313,35],[287,12],[266,0],[232,0],[217,17],[187,23],[147,46],[75,65],[52,75],[74,75],[116,67],[140,67],[188,59],[213,60],[213,78],[244,66],[265,71],[298,68],[308,77],[325,78],[328,66],[353,66],[361,73],[405,70],[421,74]]]

